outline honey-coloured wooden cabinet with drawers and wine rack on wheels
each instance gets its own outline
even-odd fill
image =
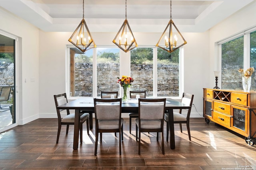
[[[240,135],[254,145],[256,139],[256,92],[204,88],[204,117]]]

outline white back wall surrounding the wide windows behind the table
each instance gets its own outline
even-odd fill
[[[116,33],[93,33],[92,37],[96,45],[114,45],[112,40]],[[44,32],[40,31],[39,53],[39,92],[40,92],[40,117],[56,117],[54,94],[65,92],[65,59],[66,45],[70,45],[68,38],[71,32]],[[194,104],[202,115],[202,95],[208,82],[209,35],[205,33],[182,33],[186,41],[184,45],[184,92],[194,94]],[[134,33],[134,37],[140,45],[156,45],[161,33]],[[116,45],[114,45],[116,47]],[[125,55],[126,53],[121,53]],[[215,84],[212,84],[214,87]],[[194,113],[194,114],[193,114]],[[194,107],[193,117],[200,117]]]

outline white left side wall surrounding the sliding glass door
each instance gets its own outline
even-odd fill
[[[18,117],[19,125],[39,117],[39,29],[0,8],[0,30],[18,37]],[[26,79],[26,83],[25,83]]]

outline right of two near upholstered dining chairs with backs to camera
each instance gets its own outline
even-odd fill
[[[139,117],[135,119],[136,123],[136,141],[139,133],[139,150],[142,132],[156,132],[158,141],[158,132],[161,133],[162,154],[164,154],[164,111],[166,98],[163,99],[138,99]],[[139,132],[138,132],[139,131]]]

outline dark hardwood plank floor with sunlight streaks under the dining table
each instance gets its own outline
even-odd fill
[[[166,127],[166,125],[165,125]],[[165,140],[165,154],[160,150],[161,142],[155,133],[142,135],[141,155],[135,141],[135,123],[129,133],[129,119],[124,121],[122,155],[119,155],[118,139],[114,133],[103,134],[94,156],[95,131],[86,133],[84,124],[83,143],[73,150],[73,129],[68,135],[62,126],[59,143],[56,144],[57,119],[37,119],[0,134],[0,169],[3,170],[224,170],[256,169],[256,146],[248,146],[244,137],[204,118],[191,118],[192,141],[188,140],[186,126],[180,133],[175,125],[176,149],[170,149]],[[166,137],[166,130],[164,133]]]

